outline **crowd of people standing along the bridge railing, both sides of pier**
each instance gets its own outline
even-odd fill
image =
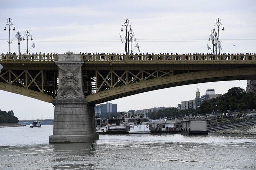
[[[203,60],[256,60],[256,53],[132,53],[131,55],[119,53],[80,53],[82,60],[175,60],[175,61],[203,61]],[[58,53],[28,53],[28,54],[4,54],[0,55],[0,60],[57,60]]]

